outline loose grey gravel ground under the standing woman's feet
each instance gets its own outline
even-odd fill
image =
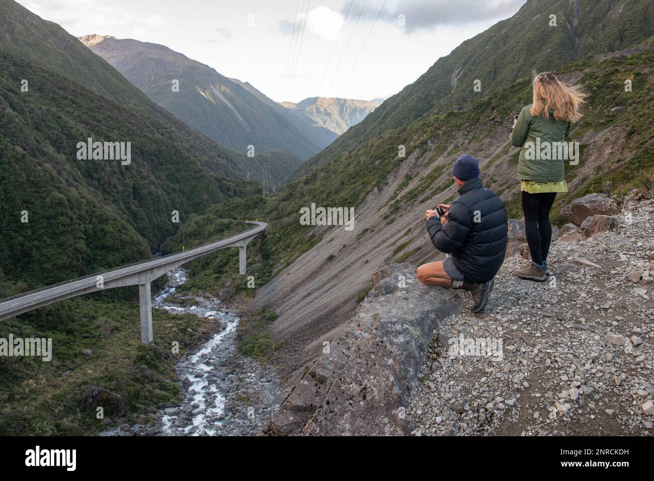
[[[654,433],[654,203],[614,217],[587,239],[562,229],[543,283],[513,274],[519,253],[507,258],[483,315],[464,296],[419,374],[415,435]],[[481,338],[502,342],[501,359],[470,347]]]

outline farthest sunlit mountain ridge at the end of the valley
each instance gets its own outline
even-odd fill
[[[298,115],[306,115],[313,122],[337,134],[343,134],[351,126],[358,124],[369,113],[379,107],[381,102],[369,100],[341,99],[329,97],[309,97],[298,103],[282,102]]]

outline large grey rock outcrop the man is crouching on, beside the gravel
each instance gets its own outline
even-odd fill
[[[439,321],[458,311],[456,291],[429,287],[415,268],[394,264],[343,334],[305,368],[265,433],[408,435],[405,413]]]

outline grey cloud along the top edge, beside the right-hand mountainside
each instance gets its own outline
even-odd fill
[[[404,15],[405,29],[415,31],[439,26],[462,26],[480,21],[500,20],[515,14],[526,0],[389,0],[379,20],[398,25]],[[358,12],[364,0],[354,0],[352,11]],[[350,1],[341,7],[347,12]],[[379,14],[383,0],[368,0],[361,18],[374,21]],[[352,13],[351,13],[352,15]]]

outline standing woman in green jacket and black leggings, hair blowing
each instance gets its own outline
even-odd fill
[[[552,240],[549,211],[557,192],[568,192],[564,179],[565,156],[559,147],[570,135],[572,122],[581,118],[579,107],[585,97],[578,86],[568,87],[553,73],[543,72],[534,79],[533,102],[513,119],[511,143],[522,147],[517,177],[525,213],[525,234],[531,264],[515,271],[523,279],[544,281],[547,253]],[[564,150],[567,152],[567,150]],[[559,158],[561,157],[561,158]]]

